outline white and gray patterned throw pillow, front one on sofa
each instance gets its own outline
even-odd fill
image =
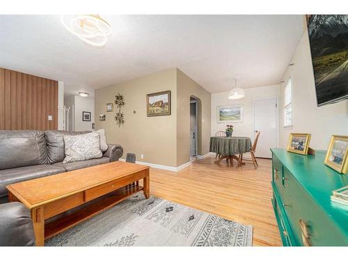
[[[100,136],[97,132],[64,136],[65,159],[63,163],[102,157]]]

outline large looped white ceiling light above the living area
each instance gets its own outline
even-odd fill
[[[111,35],[111,26],[99,15],[62,15],[65,29],[87,42],[88,45],[102,47],[106,36]]]

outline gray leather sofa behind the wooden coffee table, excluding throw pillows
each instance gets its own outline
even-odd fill
[[[102,158],[63,164],[63,136],[84,133],[87,132],[0,131],[0,203],[8,202],[8,184],[117,161],[122,157],[120,145],[108,145]]]

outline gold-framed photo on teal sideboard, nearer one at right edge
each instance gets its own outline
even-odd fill
[[[324,164],[339,173],[348,174],[348,136],[331,136]]]

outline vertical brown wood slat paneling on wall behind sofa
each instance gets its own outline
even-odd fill
[[[0,129],[57,128],[58,81],[0,68]]]

